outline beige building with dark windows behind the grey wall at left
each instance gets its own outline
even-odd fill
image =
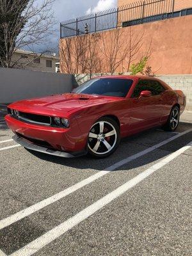
[[[18,49],[14,52],[14,68],[24,68],[32,71],[56,72],[56,63],[59,58],[56,54],[39,54]]]

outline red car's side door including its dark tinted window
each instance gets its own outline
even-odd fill
[[[140,97],[142,91],[152,93],[150,97]],[[164,87],[152,79],[140,79],[131,96],[131,130],[141,131],[158,125],[162,116],[161,93]]]

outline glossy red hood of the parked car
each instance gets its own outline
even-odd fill
[[[52,95],[48,97],[20,100],[9,105],[9,108],[15,108],[19,111],[29,113],[45,113],[49,111],[54,115],[61,111],[62,113],[70,113],[78,108],[84,106],[95,106],[98,104],[104,104],[111,101],[117,101],[122,98],[108,97],[100,95],[87,95],[77,93],[64,93],[61,95]]]

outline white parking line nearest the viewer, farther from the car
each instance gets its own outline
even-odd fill
[[[88,207],[83,209],[81,212],[72,216],[71,218],[64,221],[57,227],[52,228],[52,230],[48,231],[43,236],[38,237],[31,243],[27,244],[26,246],[18,250],[17,252],[12,253],[10,256],[23,256],[23,255],[30,256],[38,252],[38,250],[42,249],[45,245],[51,243],[61,235],[65,234],[65,232],[75,227],[77,224],[81,223],[81,221],[86,220],[88,217],[92,216],[92,214],[99,211],[102,207],[108,205],[110,202],[112,202],[119,196],[123,195],[129,189],[133,188],[142,180],[146,179],[149,175],[151,175],[152,173],[162,168],[165,164],[170,163],[170,161],[178,157],[180,154],[182,154],[191,146],[192,146],[192,141],[185,147],[182,147],[176,152],[170,154],[168,157],[164,158],[162,161],[159,161],[159,163],[154,164],[144,172],[141,172],[139,175],[127,181],[122,186],[119,186],[117,189],[113,190],[108,195],[103,196],[97,202],[93,203],[92,205],[89,205]]]

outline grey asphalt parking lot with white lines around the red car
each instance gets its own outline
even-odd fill
[[[0,256],[192,255],[192,125],[64,159],[16,145],[0,109]]]

